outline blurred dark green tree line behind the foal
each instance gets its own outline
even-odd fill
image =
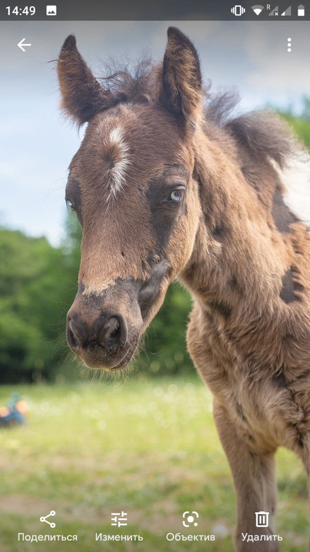
[[[300,117],[281,115],[310,148],[310,99]],[[53,381],[70,365],[65,316],[76,294],[81,230],[69,213],[59,248],[47,239],[0,228],[0,384]],[[191,299],[178,284],[152,322],[135,364],[154,375],[193,370],[185,333]],[[71,364],[70,371],[76,374]]]

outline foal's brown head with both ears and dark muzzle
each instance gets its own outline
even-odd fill
[[[194,246],[200,203],[192,135],[203,99],[198,55],[183,33],[169,28],[161,67],[131,81],[119,72],[120,86],[107,81],[105,88],[70,36],[58,71],[63,109],[88,123],[65,191],[83,230],[68,344],[87,366],[122,368]]]

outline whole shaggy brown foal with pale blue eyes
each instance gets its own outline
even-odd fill
[[[277,551],[241,533],[275,531],[278,446],[310,477],[310,237],[275,168],[301,146],[276,115],[231,118],[231,95],[204,97],[196,50],[174,28],[163,66],[103,87],[68,37],[59,81],[65,111],[89,122],[66,190],[83,227],[68,343],[89,366],[122,368],[178,276],[234,477],[236,549]],[[256,511],[271,513],[267,528]]]

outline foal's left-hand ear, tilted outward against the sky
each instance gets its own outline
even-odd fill
[[[112,93],[105,91],[95,79],[76,48],[73,34],[63,43],[57,70],[62,96],[61,108],[80,125],[111,106]]]

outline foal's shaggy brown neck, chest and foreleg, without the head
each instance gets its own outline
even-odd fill
[[[214,395],[214,419],[234,477],[237,550],[276,551],[276,542],[249,544],[242,533],[275,531],[278,446],[294,451],[310,475],[310,236],[282,201],[276,212],[281,184],[268,161],[260,160],[260,188],[251,189],[241,166],[233,168],[220,145],[208,143],[207,162],[212,150],[216,172],[212,202],[217,195],[221,212],[211,238],[202,141],[204,217],[180,275],[194,295],[187,344]],[[256,527],[259,511],[270,513],[268,529]]]

